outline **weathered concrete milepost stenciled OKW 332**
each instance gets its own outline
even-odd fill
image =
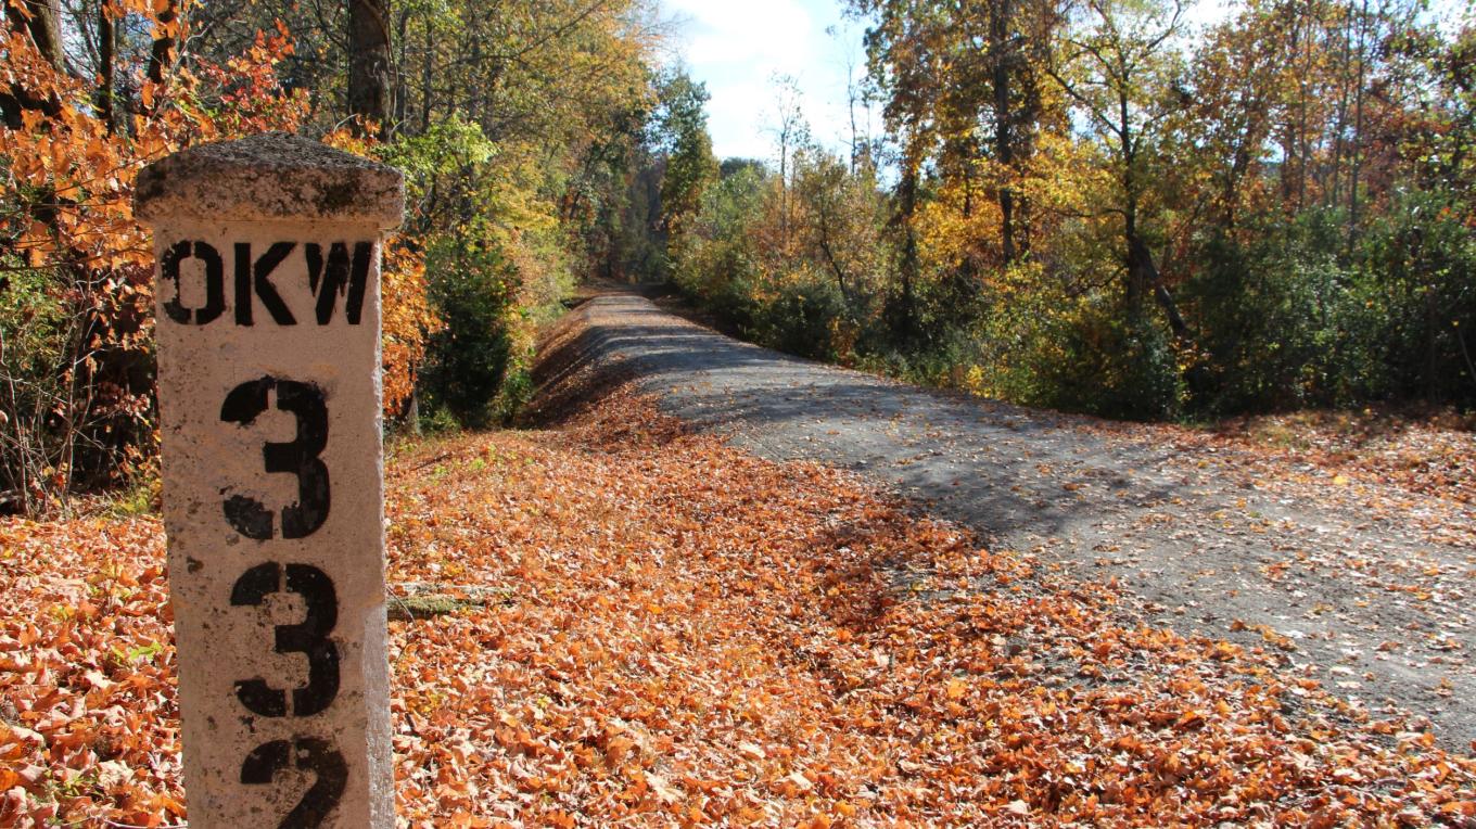
[[[399,171],[267,133],[139,174],[192,829],[390,828],[379,239]]]

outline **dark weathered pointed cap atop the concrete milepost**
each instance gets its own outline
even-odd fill
[[[133,212],[170,218],[400,226],[399,170],[291,133],[199,145],[139,171]]]

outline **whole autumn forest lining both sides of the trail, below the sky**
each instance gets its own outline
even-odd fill
[[[852,0],[843,149],[776,78],[769,159],[641,0],[12,0],[0,493],[149,479],[137,170],[263,130],[401,168],[385,413],[505,422],[580,280],[784,351],[1141,420],[1476,404],[1476,28],[1449,3]],[[877,134],[858,112],[880,115]]]

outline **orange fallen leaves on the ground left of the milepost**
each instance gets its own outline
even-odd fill
[[[0,825],[183,816],[154,519],[0,524]]]

